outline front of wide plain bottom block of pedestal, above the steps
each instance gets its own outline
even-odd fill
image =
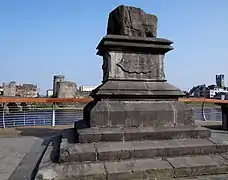
[[[178,101],[101,100],[89,117],[91,127],[161,128],[193,125],[191,115],[191,108]]]

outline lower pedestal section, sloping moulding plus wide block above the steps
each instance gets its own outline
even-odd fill
[[[90,127],[173,127],[193,125],[182,91],[167,82],[107,81],[84,108]]]

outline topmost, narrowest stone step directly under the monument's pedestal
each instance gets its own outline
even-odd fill
[[[208,138],[209,129],[199,126],[169,128],[87,128],[77,131],[80,143],[99,141],[134,141],[134,140],[165,140],[182,138]]]

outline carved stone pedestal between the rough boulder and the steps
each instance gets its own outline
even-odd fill
[[[99,43],[103,83],[84,109],[91,127],[172,127],[193,125],[192,110],[167,83],[165,53],[172,42],[154,37],[107,35]]]

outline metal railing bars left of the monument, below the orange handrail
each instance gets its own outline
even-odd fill
[[[2,111],[0,128],[20,126],[70,125],[82,119],[83,111],[78,108],[34,108],[28,111]]]

